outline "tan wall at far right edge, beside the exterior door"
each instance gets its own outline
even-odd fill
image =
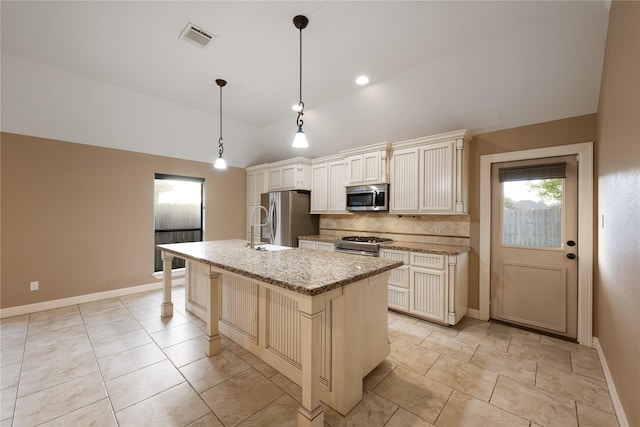
[[[640,2],[611,5],[598,141],[594,330],[629,425],[640,426]]]

